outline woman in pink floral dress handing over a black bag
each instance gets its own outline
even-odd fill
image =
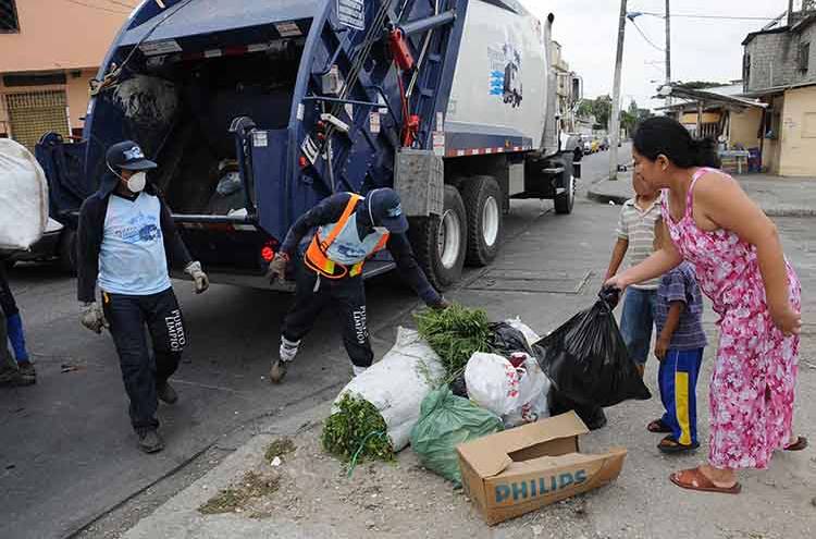
[[[792,418],[801,290],[774,223],[717,163],[710,140],[694,140],[669,118],[643,122],[632,150],[635,174],[664,189],[671,243],[607,281],[627,286],[690,261],[719,315],[709,384],[708,464],[670,476],[679,487],[738,493],[737,470],[768,466],[776,450],[807,445]]]

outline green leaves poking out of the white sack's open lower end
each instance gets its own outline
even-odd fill
[[[380,411],[360,396],[345,393],[337,412],[323,426],[323,449],[343,462],[393,461],[394,448]]]

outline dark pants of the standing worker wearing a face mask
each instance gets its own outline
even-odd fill
[[[102,293],[104,316],[116,345],[122,380],[131,399],[131,422],[139,432],[157,428],[156,388],[178,368],[187,344],[182,311],[173,289],[149,296]],[[152,341],[150,353],[145,327]]]

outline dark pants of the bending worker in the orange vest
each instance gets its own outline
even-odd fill
[[[362,277],[346,277],[332,280],[320,278],[320,286],[314,291],[318,275],[297,262],[297,292],[295,304],[283,322],[283,336],[289,341],[300,341],[314,327],[322,310],[330,304],[343,324],[343,345],[351,363],[358,367],[370,367],[374,358],[369,342],[366,323],[366,287]]]

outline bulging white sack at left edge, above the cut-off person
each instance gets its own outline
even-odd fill
[[[0,138],[0,249],[27,249],[48,224],[48,181],[24,146]]]

